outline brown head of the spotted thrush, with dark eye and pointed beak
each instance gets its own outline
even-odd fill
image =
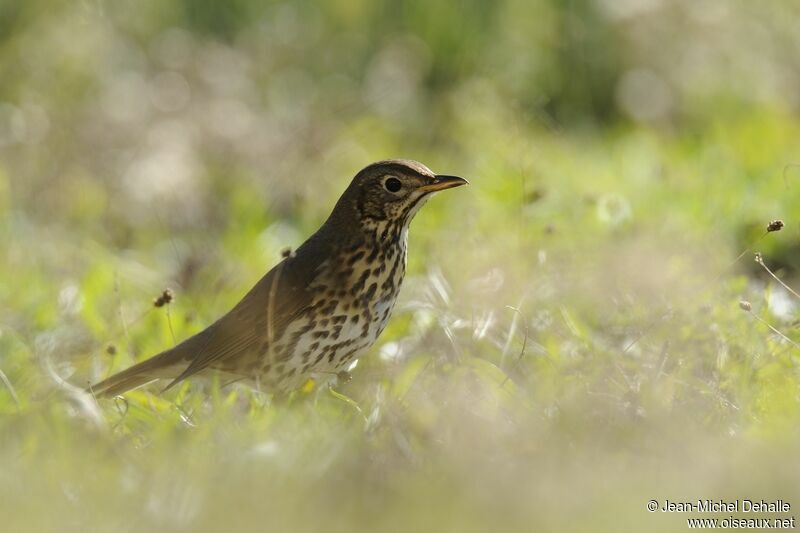
[[[466,184],[464,178],[434,174],[416,161],[379,161],[356,174],[334,214],[346,212],[367,228],[387,223],[405,228],[434,193]]]

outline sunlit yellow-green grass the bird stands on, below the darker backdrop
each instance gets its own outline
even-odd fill
[[[755,128],[778,142],[751,148]],[[337,187],[284,220],[243,183],[217,198],[229,215],[212,235],[154,222],[124,250],[100,221],[125,206],[57,226],[6,201],[6,523],[669,530],[683,518],[650,515],[648,499],[791,502],[798,349],[764,322],[797,339],[796,312],[776,316],[775,284],[743,275],[758,271],[751,253],[731,263],[750,244],[734,236],[751,223],[787,222],[752,250],[796,245],[800,188],[783,183],[792,153],[779,142],[796,129],[754,115],[699,145],[636,129],[590,139],[529,130],[495,138],[491,157],[439,163],[472,186],[415,221],[392,325],[337,394],[279,406],[214,383],[124,402],[80,389],[224,312],[280,246],[296,244],[284,239],[323,219]],[[465,152],[488,142],[459,141]],[[735,149],[726,173],[710,176],[720,146]],[[541,156],[523,169],[502,153],[525,149]],[[155,309],[165,286],[177,299]]]

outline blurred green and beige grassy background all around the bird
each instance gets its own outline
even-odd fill
[[[685,529],[651,498],[800,506],[798,23],[792,0],[0,1],[4,515],[618,531]],[[80,392],[395,157],[472,186],[415,220],[344,398]]]

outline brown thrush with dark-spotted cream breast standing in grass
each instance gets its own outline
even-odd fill
[[[412,160],[368,165],[317,232],[228,313],[87,391],[115,397],[169,380],[165,392],[187,378],[218,374],[277,396],[309,379],[330,381],[386,327],[406,273],[411,220],[434,194],[466,184]]]

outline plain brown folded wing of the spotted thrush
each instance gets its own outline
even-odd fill
[[[207,368],[236,366],[230,363],[256,350],[266,351],[280,338],[312,303],[309,285],[319,273],[320,261],[318,254],[304,254],[304,259],[281,261],[228,314],[187,343],[193,353],[183,355],[191,363],[164,390]]]

